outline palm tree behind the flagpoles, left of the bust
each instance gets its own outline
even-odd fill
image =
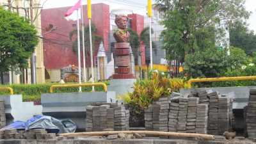
[[[92,24],[92,48],[95,49],[94,43],[95,42],[100,42],[102,40],[102,37],[95,35],[95,32],[97,31],[97,28],[95,24]],[[89,67],[89,62],[88,62],[88,56],[90,56],[90,29],[89,26],[86,26],[84,28],[84,51],[85,51],[85,64],[86,67]],[[79,31],[80,35],[83,35],[82,31]],[[77,34],[77,29],[73,29],[69,33],[69,39],[72,40],[72,36]],[[80,49],[83,51],[83,36],[80,36]],[[77,38],[72,42],[72,51],[74,54],[77,54]],[[91,66],[93,67],[93,66]],[[87,74],[89,74],[89,68],[87,68]],[[87,79],[90,79],[90,76],[87,75]]]

